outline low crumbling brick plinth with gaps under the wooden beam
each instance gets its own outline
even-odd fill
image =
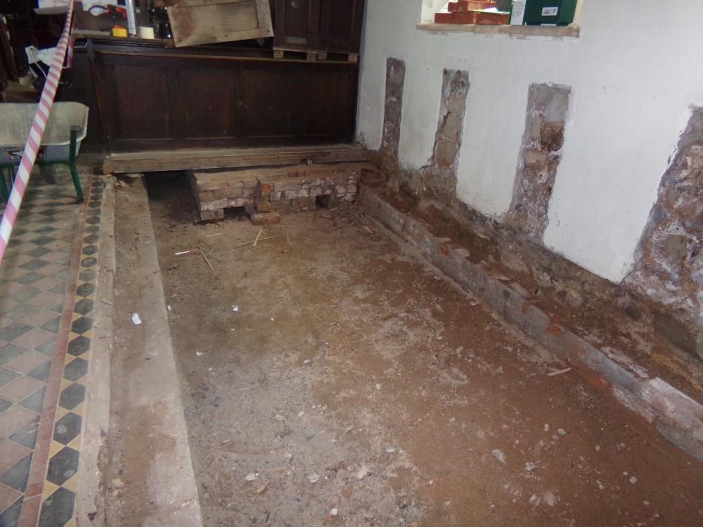
[[[191,171],[201,221],[224,218],[224,209],[245,207],[254,223],[275,223],[280,214],[305,212],[318,204],[356,200],[366,163],[298,164],[228,171]]]

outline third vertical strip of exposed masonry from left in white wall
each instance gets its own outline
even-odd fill
[[[508,221],[541,240],[564,143],[569,86],[531,84]]]

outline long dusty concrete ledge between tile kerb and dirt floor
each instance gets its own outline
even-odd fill
[[[115,195],[106,525],[202,527],[146,188]],[[131,320],[138,313],[141,323]],[[120,479],[122,486],[112,481]],[[117,491],[117,492],[115,492]]]

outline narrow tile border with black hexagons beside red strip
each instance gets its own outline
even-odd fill
[[[63,313],[19,527],[72,527],[95,301],[104,182],[92,176],[79,220]]]

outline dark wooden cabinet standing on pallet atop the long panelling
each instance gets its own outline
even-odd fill
[[[363,0],[276,0],[273,47],[359,53]]]

